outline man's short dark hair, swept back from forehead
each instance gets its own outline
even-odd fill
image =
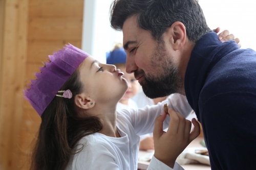
[[[211,30],[196,0],[115,0],[111,5],[111,26],[122,30],[123,23],[137,15],[138,25],[156,40],[176,21],[186,28],[190,41],[197,42]]]

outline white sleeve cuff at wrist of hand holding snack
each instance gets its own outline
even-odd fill
[[[184,170],[177,162],[175,162],[174,168],[171,168],[159,161],[155,156],[152,157],[150,165],[148,165],[147,170]]]

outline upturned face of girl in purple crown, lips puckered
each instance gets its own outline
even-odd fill
[[[90,56],[78,69],[83,91],[95,104],[117,103],[127,90],[128,84],[122,77],[123,73],[114,65],[99,63]]]

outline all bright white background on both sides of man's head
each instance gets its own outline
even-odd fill
[[[105,53],[115,42],[122,42],[122,32],[110,27],[109,9],[112,0],[86,0],[84,3],[82,50],[105,63]],[[229,30],[240,39],[242,48],[256,50],[256,1],[200,0],[208,26]]]

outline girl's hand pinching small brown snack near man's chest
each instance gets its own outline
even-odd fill
[[[154,128],[154,156],[165,163],[169,167],[174,167],[177,157],[187,147],[187,145],[198,137],[200,134],[200,126],[195,118],[192,122],[195,126],[190,133],[191,122],[186,120],[179,112],[168,109],[170,115],[170,123],[167,132],[163,131],[163,122],[166,118],[166,113],[163,112],[156,118]]]

